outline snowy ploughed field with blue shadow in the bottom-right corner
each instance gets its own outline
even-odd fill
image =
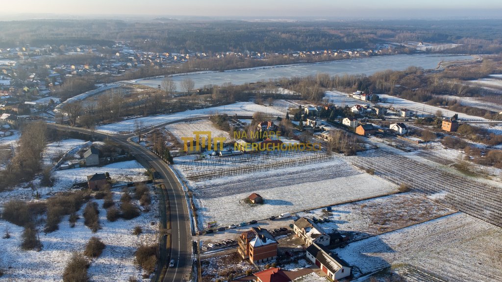
[[[334,249],[360,276],[411,264],[448,281],[502,280],[502,229],[463,213],[350,243]]]

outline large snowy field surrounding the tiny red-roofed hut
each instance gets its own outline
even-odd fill
[[[295,157],[286,155],[284,158]],[[274,164],[276,159],[280,162],[281,158],[263,158],[257,159],[257,162],[261,167],[266,167]],[[242,162],[240,165],[249,168],[254,165],[253,160]],[[188,170],[189,166],[178,160],[175,163],[175,169],[185,180],[192,178],[191,174],[200,174],[199,170]],[[212,170],[215,171],[216,168],[217,166],[213,166]],[[226,170],[238,170],[238,164],[233,169]],[[356,170],[334,156],[313,163],[293,164],[260,172],[244,170],[235,176],[187,182],[198,207],[199,226],[205,226],[213,220],[220,225],[260,220],[284,212],[311,210],[397,191],[396,185]],[[260,194],[265,203],[248,204],[245,199],[252,193]]]

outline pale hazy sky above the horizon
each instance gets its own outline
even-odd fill
[[[2,1],[0,14],[208,17],[501,18],[499,0],[23,0]],[[36,15],[34,16],[36,17]]]

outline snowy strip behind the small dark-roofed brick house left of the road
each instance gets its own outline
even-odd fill
[[[40,193],[42,198],[48,198],[54,195],[54,193],[70,190],[74,183],[86,182],[88,175],[105,172],[110,173],[110,177],[116,182],[137,182],[148,180],[148,177],[144,175],[146,169],[136,161],[114,163],[100,168],[89,167],[62,170],[54,172],[53,177],[55,179],[55,183],[53,187],[40,186],[40,179],[36,179],[33,181],[36,189],[18,186],[12,191],[0,193],[0,204],[11,199],[30,201],[34,199],[36,191]]]

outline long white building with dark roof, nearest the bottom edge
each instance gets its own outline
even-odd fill
[[[306,255],[307,259],[319,266],[331,280],[337,281],[350,275],[351,268],[345,261],[318,244],[310,245]]]

